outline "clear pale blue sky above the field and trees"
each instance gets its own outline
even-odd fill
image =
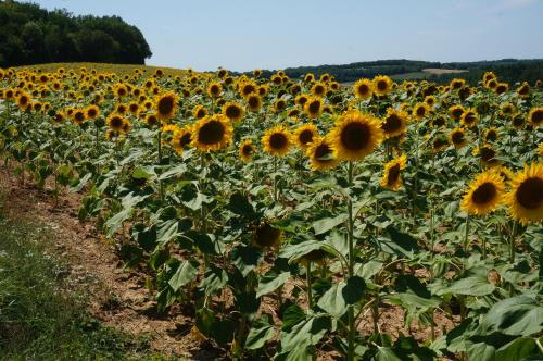
[[[140,28],[151,65],[283,69],[543,58],[543,0],[35,0]]]

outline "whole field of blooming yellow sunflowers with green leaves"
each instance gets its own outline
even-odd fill
[[[4,164],[231,359],[539,359],[542,125],[493,73],[0,70]]]

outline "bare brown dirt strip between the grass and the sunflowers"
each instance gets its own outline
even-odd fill
[[[144,275],[123,270],[111,245],[91,222],[79,222],[80,195],[64,194],[54,207],[50,191],[0,167],[0,194],[8,216],[30,219],[52,229],[52,244],[71,264],[68,279],[89,288],[90,313],[104,325],[132,335],[149,335],[153,350],[167,357],[210,360],[217,356],[191,334],[192,320],[171,311],[156,312],[156,302],[144,287]]]

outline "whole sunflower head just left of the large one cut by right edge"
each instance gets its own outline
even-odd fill
[[[495,210],[504,201],[505,185],[493,171],[479,174],[462,199],[460,208],[476,215],[484,215]]]

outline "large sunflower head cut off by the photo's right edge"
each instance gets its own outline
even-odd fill
[[[522,225],[543,221],[543,164],[526,164],[515,174],[505,199],[510,216]]]

